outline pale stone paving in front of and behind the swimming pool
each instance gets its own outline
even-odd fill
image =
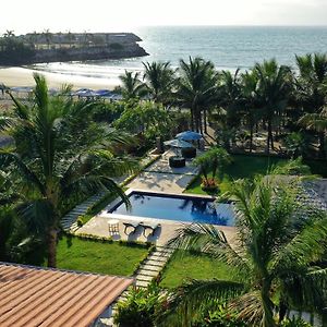
[[[198,152],[198,155],[201,152]],[[189,183],[197,175],[197,168],[192,165],[192,160],[186,161],[186,166],[183,168],[170,168],[168,159],[173,156],[174,153],[171,150],[166,152],[161,158],[150,165],[141,174],[138,174],[129,185],[129,190],[125,192],[130,194],[133,191],[143,192],[155,192],[162,194],[174,194],[180,195],[184,192]],[[183,194],[187,196],[186,194]],[[190,197],[209,197],[204,195],[192,194]],[[164,220],[154,218],[140,218],[133,216],[112,217],[108,215],[107,210],[116,204],[110,204],[105,210],[99,213],[97,216],[92,218],[87,223],[77,230],[78,233],[94,234],[97,237],[112,237],[113,240],[124,240],[124,241],[140,241],[140,242],[152,242],[157,245],[166,245],[169,240],[171,240],[178,229],[190,225],[190,222],[180,222],[174,220]],[[109,232],[108,220],[118,219],[119,220],[119,232]],[[143,228],[138,228],[135,233],[126,235],[124,233],[123,222],[128,221],[148,221],[158,222],[161,227],[157,230],[154,237],[145,238],[143,235]],[[231,244],[235,239],[235,228],[227,226],[217,226],[217,229],[222,230],[226,238]]]

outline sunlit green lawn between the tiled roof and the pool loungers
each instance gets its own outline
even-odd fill
[[[63,237],[58,243],[58,268],[131,276],[148,249],[138,244],[82,240]]]

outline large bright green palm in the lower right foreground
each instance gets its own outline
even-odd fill
[[[295,202],[296,183],[286,181],[289,186],[271,175],[235,183],[230,193],[237,219],[232,244],[213,226],[179,230],[171,244],[226,263],[233,278],[183,284],[172,301],[177,306],[167,318],[169,326],[191,326],[183,322],[206,305],[213,307],[215,299],[227,301],[249,326],[264,327],[277,326],[277,311],[281,322],[292,306],[318,311],[326,306],[327,271],[314,263],[326,254],[327,216],[308,218]]]

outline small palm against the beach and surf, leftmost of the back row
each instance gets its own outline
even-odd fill
[[[135,99],[146,95],[146,86],[140,81],[140,73],[125,71],[119,78],[122,82],[120,92],[125,100]]]

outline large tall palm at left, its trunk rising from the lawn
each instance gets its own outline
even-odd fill
[[[123,134],[92,122],[95,102],[50,97],[45,77],[35,74],[34,78],[32,107],[11,95],[13,117],[0,119],[0,130],[15,140],[15,148],[0,152],[0,171],[9,173],[17,194],[25,195],[16,203],[17,215],[44,235],[48,266],[56,267],[60,218],[68,207],[100,190],[128,203],[111,178],[132,171],[135,165],[116,156],[114,148],[129,143]]]

